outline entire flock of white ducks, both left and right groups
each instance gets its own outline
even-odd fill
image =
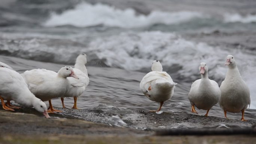
[[[74,97],[72,108],[77,109],[76,101],[89,84],[89,77],[85,64],[86,55],[80,54],[72,67],[62,67],[58,73],[45,69],[34,69],[25,71],[22,74],[17,73],[7,64],[0,62],[0,99],[5,110],[19,108],[10,104],[13,100],[26,107],[34,107],[37,111],[49,117],[48,113],[54,113],[51,99],[61,98],[63,107],[64,97]],[[207,110],[205,116],[213,105],[219,102],[220,107],[226,112],[242,113],[241,120],[244,119],[244,110],[250,105],[250,91],[242,79],[235,58],[228,55],[225,65],[228,65],[225,80],[219,85],[208,78],[207,64],[201,62],[199,73],[201,79],[192,83],[188,94],[192,106],[192,112],[197,113],[195,107]],[[147,73],[140,82],[140,89],[143,94],[151,101],[159,102],[158,110],[152,110],[159,113],[165,101],[174,94],[174,83],[171,76],[162,71],[162,65],[159,61],[153,61],[152,71]],[[7,100],[4,103],[4,100]],[[49,101],[47,110],[43,101]],[[198,114],[198,113],[197,113]]]

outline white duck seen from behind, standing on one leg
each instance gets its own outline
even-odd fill
[[[151,69],[152,71],[141,80],[140,89],[151,101],[160,102],[160,107],[156,110],[158,112],[164,102],[173,96],[177,83],[174,83],[171,76],[163,71],[159,61],[153,61]]]

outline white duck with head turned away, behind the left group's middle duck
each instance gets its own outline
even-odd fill
[[[74,73],[79,77],[79,79],[74,79],[73,77],[68,77],[67,79],[70,82],[70,88],[65,94],[64,97],[74,97],[74,105],[72,108],[77,109],[76,101],[77,97],[80,96],[84,91],[85,88],[89,85],[89,77],[87,73],[87,69],[85,64],[87,63],[86,54],[80,54],[76,58],[76,64],[74,65]],[[64,98],[61,98],[62,106],[65,108],[64,105]]]

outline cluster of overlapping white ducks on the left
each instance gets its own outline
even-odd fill
[[[51,99],[71,96],[77,98],[85,91],[89,84],[86,62],[86,55],[80,54],[76,59],[74,69],[65,66],[58,73],[45,69],[34,69],[22,74],[1,62],[0,99],[3,108],[12,111],[14,111],[13,108],[19,108],[10,105],[10,100],[13,100],[25,107],[34,107],[47,118],[49,117],[48,113],[61,112],[52,107]],[[4,100],[7,102],[4,103]],[[49,101],[48,110],[43,101]],[[73,108],[77,108],[76,100]]]

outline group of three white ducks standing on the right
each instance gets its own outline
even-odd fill
[[[250,91],[244,80],[242,79],[235,58],[228,55],[225,65],[228,65],[228,72],[225,80],[219,85],[208,78],[208,67],[205,62],[201,62],[199,73],[201,79],[192,83],[188,94],[191,103],[192,112],[196,113],[195,107],[207,110],[204,116],[208,116],[208,112],[213,105],[219,102],[220,107],[226,112],[242,113],[242,121],[244,119],[244,110],[250,105]],[[140,89],[143,94],[151,101],[160,102],[160,107],[156,112],[161,110],[164,101],[173,96],[174,83],[170,75],[162,71],[162,65],[159,61],[154,61],[152,71],[147,73],[140,82]]]

